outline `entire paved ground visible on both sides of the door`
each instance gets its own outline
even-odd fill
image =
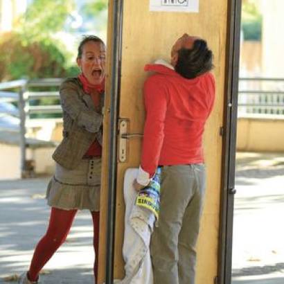
[[[4,278],[28,268],[48,222],[47,182],[0,181],[0,283],[13,283]],[[232,283],[283,284],[284,154],[238,153],[236,189]],[[68,241],[44,268],[44,284],[94,283],[91,216],[76,217]]]

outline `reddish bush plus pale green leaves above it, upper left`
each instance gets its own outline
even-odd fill
[[[75,8],[74,0],[34,0],[18,21],[14,31],[1,35],[0,80],[66,77],[71,55],[54,39]]]

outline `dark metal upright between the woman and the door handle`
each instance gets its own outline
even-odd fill
[[[114,283],[114,233],[116,215],[116,170],[117,170],[117,129],[118,100],[120,91],[120,59],[122,33],[123,0],[114,0],[112,30],[112,81],[110,89],[110,130],[109,130],[109,176],[108,176],[108,215],[107,215],[107,256],[105,283]]]

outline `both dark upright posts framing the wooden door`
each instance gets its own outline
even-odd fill
[[[114,281],[114,233],[116,215],[116,170],[118,106],[121,91],[121,49],[123,30],[123,0],[109,0],[112,11],[112,51],[110,58],[110,108],[109,152],[107,176],[107,247],[105,259],[105,283]],[[241,0],[228,1],[227,26],[227,78],[225,79],[224,126],[222,147],[222,183],[220,197],[220,238],[218,251],[218,276],[215,284],[231,284],[231,257],[233,242],[233,202],[235,185],[236,125],[238,109],[238,70],[240,57],[240,15]]]

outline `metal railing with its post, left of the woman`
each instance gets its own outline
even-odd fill
[[[51,87],[59,87],[62,78],[38,80],[15,80],[0,83],[0,101],[14,102],[19,110],[19,145],[21,149],[21,176],[26,172],[26,118],[32,114],[62,113],[57,105],[31,105],[31,101],[42,98],[59,98],[58,91],[48,91]],[[36,89],[36,91],[34,91]],[[40,89],[40,91],[39,91]],[[9,114],[6,112],[6,114]]]

